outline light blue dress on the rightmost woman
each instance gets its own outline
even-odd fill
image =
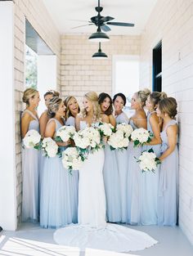
[[[161,152],[168,148],[167,128],[176,125],[175,120],[168,122],[161,132]],[[162,226],[175,226],[177,224],[178,209],[178,151],[177,146],[172,154],[168,155],[160,166],[159,196],[158,196],[158,223]]]

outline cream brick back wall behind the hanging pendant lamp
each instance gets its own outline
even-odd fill
[[[80,101],[85,92],[112,91],[112,56],[140,55],[140,36],[110,36],[101,45],[107,60],[92,60],[98,44],[88,41],[89,35],[61,36],[61,92]]]

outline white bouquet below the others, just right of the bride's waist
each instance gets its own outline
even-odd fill
[[[128,147],[128,137],[125,137],[125,134],[123,130],[119,129],[116,132],[113,132],[110,135],[109,140],[107,143],[110,145],[111,150],[116,150],[116,149],[127,149]]]

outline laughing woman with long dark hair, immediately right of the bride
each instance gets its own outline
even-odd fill
[[[101,107],[101,115],[106,116],[105,123],[112,124],[114,127],[116,121],[113,113],[113,101],[109,94],[102,92],[99,95],[98,103]],[[103,166],[103,178],[105,183],[106,197],[106,218],[108,222],[121,221],[121,202],[120,202],[120,183],[119,170],[115,151],[110,150],[108,144],[105,145],[105,162]]]

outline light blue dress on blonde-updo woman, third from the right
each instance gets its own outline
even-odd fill
[[[132,119],[129,120],[133,130],[137,126]],[[128,145],[128,178],[127,178],[127,222],[131,225],[141,223],[141,170],[136,158],[141,155],[141,146],[134,147],[130,142]]]

